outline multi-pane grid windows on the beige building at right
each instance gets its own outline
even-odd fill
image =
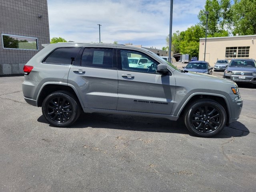
[[[249,57],[250,46],[226,47],[226,58]]]

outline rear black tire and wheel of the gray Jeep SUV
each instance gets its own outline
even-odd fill
[[[55,127],[67,127],[80,116],[80,104],[76,97],[66,91],[48,95],[42,103],[44,118]]]

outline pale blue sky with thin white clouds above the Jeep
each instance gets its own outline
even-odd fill
[[[173,0],[172,33],[199,22],[205,0]],[[132,43],[162,49],[169,34],[170,0],[48,0],[50,38]]]

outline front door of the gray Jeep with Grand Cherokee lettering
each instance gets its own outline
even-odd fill
[[[147,58],[148,62],[130,67],[129,57]],[[175,78],[156,74],[159,63],[139,51],[118,50],[118,106],[117,110],[170,114],[175,96]]]

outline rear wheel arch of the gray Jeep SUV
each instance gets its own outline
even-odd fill
[[[83,107],[83,103],[81,102],[79,94],[75,91],[75,89],[72,86],[68,86],[66,83],[60,84],[56,82],[47,82],[46,84],[43,84],[36,98],[36,106],[41,107],[46,96],[56,91],[70,92],[72,95],[76,97],[76,99],[78,99],[80,106]]]

